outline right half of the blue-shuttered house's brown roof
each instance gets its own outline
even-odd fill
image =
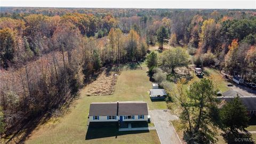
[[[118,115],[148,115],[147,103],[140,102],[119,102]]]

